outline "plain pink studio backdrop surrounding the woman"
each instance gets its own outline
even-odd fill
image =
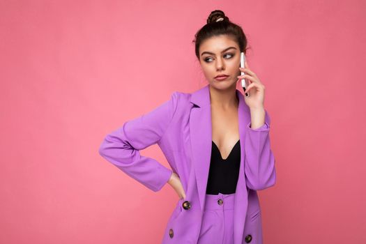
[[[98,154],[206,84],[192,40],[222,9],[266,86],[277,183],[265,243],[366,243],[365,1],[0,1],[0,243],[160,243],[178,195]],[[141,151],[168,165],[157,145]]]

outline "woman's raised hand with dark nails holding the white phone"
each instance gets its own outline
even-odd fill
[[[245,93],[249,93],[250,96],[244,96],[245,103],[250,107],[250,109],[261,109],[264,108],[264,84],[261,83],[257,75],[250,70],[247,66],[247,61],[245,61],[245,68],[239,68],[245,75],[239,75],[238,79],[241,80],[245,78],[247,81],[247,87]]]

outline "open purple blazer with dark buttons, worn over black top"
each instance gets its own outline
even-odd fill
[[[250,109],[243,93],[239,99],[238,121],[241,166],[234,204],[234,244],[262,243],[261,208],[257,190],[275,185],[275,158],[270,148],[270,117],[250,128]],[[100,145],[103,158],[125,174],[159,191],[172,171],[181,178],[185,199],[179,199],[167,222],[162,243],[196,244],[203,216],[212,146],[209,85],[194,93],[175,91],[171,98],[151,112],[126,121],[107,135]],[[157,160],[140,155],[139,150],[158,144],[171,169]],[[190,208],[183,208],[184,201]],[[185,204],[186,206],[186,204]],[[245,241],[246,240],[246,241]]]

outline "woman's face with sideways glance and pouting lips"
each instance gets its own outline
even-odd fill
[[[241,52],[234,40],[226,35],[208,38],[199,47],[199,63],[211,86],[216,89],[236,87],[241,62]],[[228,75],[218,80],[217,75]]]

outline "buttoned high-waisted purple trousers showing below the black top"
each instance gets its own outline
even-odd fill
[[[206,194],[197,244],[234,243],[234,199],[235,193]]]

